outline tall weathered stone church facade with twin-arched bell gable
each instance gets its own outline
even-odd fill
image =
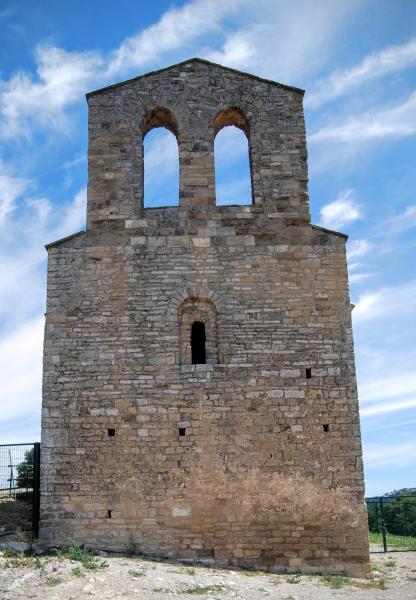
[[[41,536],[364,575],[347,236],[310,223],[303,91],[193,59],[87,99],[87,231],[47,246]],[[250,206],[215,204],[228,125]],[[178,207],[143,208],[155,127]]]

